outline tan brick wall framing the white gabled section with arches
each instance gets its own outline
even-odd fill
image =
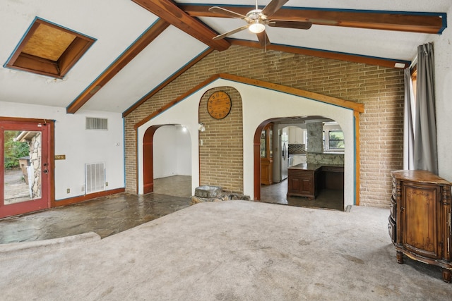
[[[265,80],[364,104],[365,113],[360,115],[359,124],[360,200],[362,205],[388,206],[389,171],[402,168],[403,70],[239,46],[209,54],[126,116],[126,191],[137,191],[133,125],[216,73]]]

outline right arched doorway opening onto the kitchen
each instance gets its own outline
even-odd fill
[[[273,182],[264,183],[261,178],[265,178],[266,168],[262,164],[262,154],[268,152],[262,152],[262,137],[265,135],[261,133],[268,129],[268,125],[272,125],[273,128],[273,149],[271,150],[273,153]],[[287,128],[290,128],[290,131]],[[287,132],[291,134],[289,137],[287,137]],[[294,137],[295,135],[297,137]],[[307,140],[311,142],[308,148],[306,148]],[[254,133],[254,199],[275,204],[343,210],[345,208],[344,142],[344,133],[340,125],[323,116],[292,116],[263,121]],[[260,152],[258,152],[259,150]],[[290,159],[297,163],[287,165],[285,161],[287,152],[290,154]],[[301,180],[293,178],[293,176],[287,178],[283,175],[283,169],[287,171],[287,167],[306,163],[307,158],[309,158],[308,163],[310,164],[303,166],[307,170],[297,172],[309,173],[310,169],[315,167],[315,171],[313,171],[315,180],[313,178],[312,187],[309,186],[313,191],[312,195],[307,192],[294,192],[290,185],[290,183],[295,183],[294,180],[303,185],[311,183],[311,180],[308,181],[305,178]],[[303,159],[303,162],[299,161],[300,159]],[[297,166],[297,168],[301,168],[301,166]],[[290,171],[294,173],[293,168]]]

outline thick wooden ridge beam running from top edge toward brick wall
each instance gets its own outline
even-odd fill
[[[231,44],[225,39],[213,40],[217,35],[216,32],[201,23],[196,18],[189,16],[182,11],[173,1],[170,0],[132,0],[139,6],[147,9],[155,16],[166,20],[171,25],[179,28],[218,51],[228,49]]]

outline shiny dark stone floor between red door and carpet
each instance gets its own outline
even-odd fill
[[[119,233],[190,206],[188,197],[120,193],[0,220],[0,243],[46,240],[95,232]]]

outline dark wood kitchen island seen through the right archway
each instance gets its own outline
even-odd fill
[[[319,191],[344,189],[344,166],[302,163],[287,168],[287,197],[315,199]]]

